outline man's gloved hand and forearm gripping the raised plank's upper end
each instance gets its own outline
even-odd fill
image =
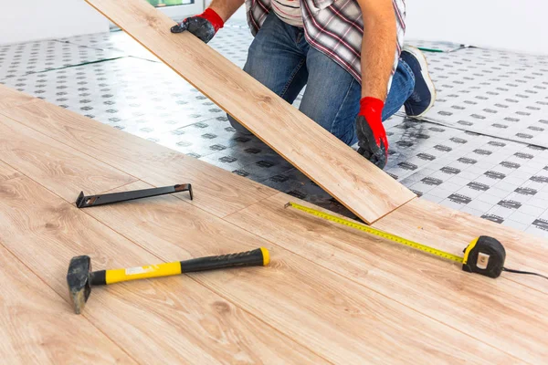
[[[205,43],[209,42],[216,32],[225,26],[230,16],[244,4],[245,0],[213,0],[204,13],[185,18],[180,24],[172,26],[172,33],[188,30]]]

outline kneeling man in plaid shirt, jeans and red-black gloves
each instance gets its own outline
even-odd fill
[[[436,98],[426,58],[404,47],[404,1],[247,0],[255,38],[244,71],[291,104],[306,86],[300,111],[347,145],[358,142],[358,153],[383,169],[383,121],[402,106],[418,119]],[[171,31],[207,43],[243,4],[213,0]]]

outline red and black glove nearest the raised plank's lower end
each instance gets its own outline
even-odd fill
[[[383,108],[380,99],[366,97],[360,100],[360,112],[356,117],[358,153],[381,169],[388,161],[388,140],[383,126]]]

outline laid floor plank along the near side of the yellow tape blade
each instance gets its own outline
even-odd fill
[[[318,209],[279,193],[225,219],[522,361],[548,359],[547,295],[284,208],[290,201]]]

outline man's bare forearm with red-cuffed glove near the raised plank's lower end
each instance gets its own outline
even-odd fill
[[[381,169],[388,161],[383,108],[396,49],[392,0],[357,0],[364,18],[362,39],[362,99],[356,118],[359,152]]]

